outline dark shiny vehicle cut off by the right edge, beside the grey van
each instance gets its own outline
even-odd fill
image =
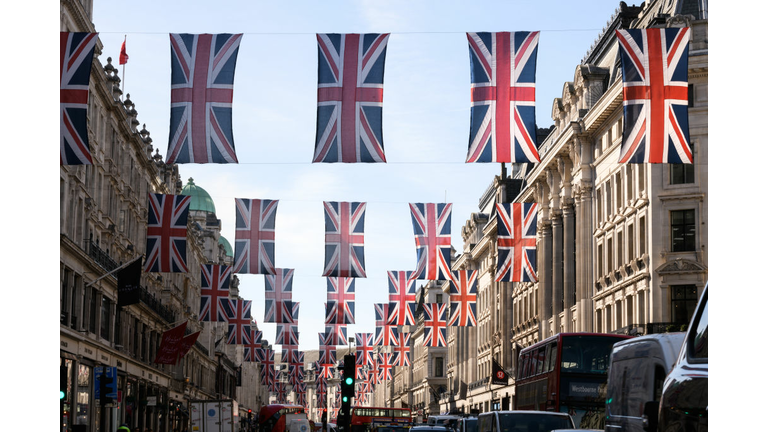
[[[680,355],[670,371],[661,393],[658,431],[706,432],[708,424],[709,379],[707,308],[708,286],[704,287],[691,325],[680,348]],[[653,426],[656,419],[650,419]]]

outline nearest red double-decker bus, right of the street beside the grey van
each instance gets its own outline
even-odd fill
[[[565,412],[582,429],[605,426],[608,364],[630,336],[560,333],[520,351],[515,409]]]

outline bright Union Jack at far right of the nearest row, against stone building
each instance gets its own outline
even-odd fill
[[[616,30],[624,80],[621,163],[693,163],[685,28]]]

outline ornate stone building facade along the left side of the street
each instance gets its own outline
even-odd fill
[[[94,32],[92,12],[91,1],[63,0],[60,30]],[[99,59],[101,48],[97,41],[88,101],[94,163],[60,167],[60,362],[68,389],[60,430],[115,430],[125,422],[171,431],[187,424],[193,399],[236,399],[255,409],[254,374],[245,374],[253,390],[238,387],[242,348],[217,345],[221,330],[197,317],[200,264],[231,262],[215,213],[211,219],[191,208],[189,273],[143,274],[140,302],[117,307],[115,271],[145,252],[148,194],[184,189],[178,166],[153,155],[150,133],[139,130],[136,105],[122,95],[111,59]],[[184,321],[188,333],[201,331],[190,352],[177,365],[153,363],[163,332]],[[97,367],[117,368],[119,396],[108,406],[95,398]]]

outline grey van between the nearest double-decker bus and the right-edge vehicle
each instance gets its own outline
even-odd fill
[[[606,432],[648,431],[647,402],[659,402],[685,333],[660,333],[617,342],[611,352],[605,397]],[[654,413],[658,405],[649,405]],[[651,417],[654,417],[652,414]],[[653,431],[648,431],[653,432]]]

